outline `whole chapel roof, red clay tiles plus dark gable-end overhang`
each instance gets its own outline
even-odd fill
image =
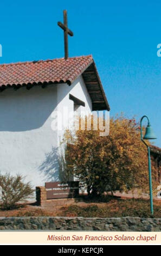
[[[93,110],[110,110],[92,55],[0,65],[0,92],[5,88],[27,89],[48,83],[72,84],[82,74]]]

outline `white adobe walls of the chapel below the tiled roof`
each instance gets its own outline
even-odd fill
[[[82,76],[71,86],[53,84],[42,89],[12,88],[0,93],[0,172],[26,176],[35,186],[59,180],[58,148],[63,131],[53,131],[55,111],[67,106],[73,111],[69,93],[85,102],[92,112],[91,98]],[[57,112],[57,113],[58,113]],[[68,123],[68,122],[67,122]]]

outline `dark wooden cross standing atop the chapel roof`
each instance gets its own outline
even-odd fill
[[[67,24],[67,11],[63,10],[63,21],[64,23],[61,23],[60,21],[57,22],[57,25],[61,27],[64,31],[64,40],[65,40],[65,59],[68,58],[68,35],[73,36],[73,32],[70,31]]]

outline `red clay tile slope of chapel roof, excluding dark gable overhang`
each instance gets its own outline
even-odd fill
[[[0,87],[38,82],[71,84],[92,61],[89,55],[0,65]]]

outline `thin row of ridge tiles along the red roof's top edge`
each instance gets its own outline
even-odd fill
[[[29,61],[25,61],[25,62],[13,62],[13,63],[3,63],[3,64],[0,64],[0,66],[13,66],[13,65],[22,65],[22,64],[29,64],[29,63],[44,63],[44,62],[54,62],[54,61],[56,61],[56,60],[61,60],[61,59],[63,59],[63,60],[65,60],[65,61],[67,61],[67,60],[69,60],[69,59],[78,59],[78,58],[92,58],[93,59],[93,56],[92,56],[92,54],[89,54],[89,55],[86,55],[86,56],[84,56],[84,55],[82,55],[82,56],[75,56],[75,57],[69,57],[68,59],[65,59],[65,58],[55,58],[55,59],[46,59],[46,60],[43,60],[43,59],[41,59],[41,60],[29,60]]]

